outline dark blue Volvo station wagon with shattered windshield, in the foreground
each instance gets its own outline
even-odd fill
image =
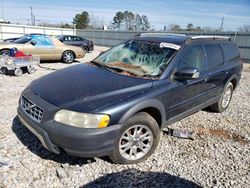
[[[137,163],[161,129],[207,107],[225,111],[242,67],[228,38],[142,35],[33,81],[18,116],[54,153]]]

